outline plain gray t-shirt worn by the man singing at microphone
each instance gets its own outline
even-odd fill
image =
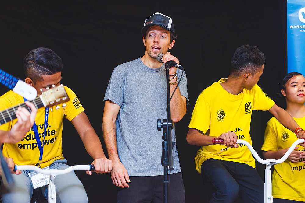
[[[177,69],[178,79],[181,74],[182,71]],[[179,89],[188,103],[185,73]],[[104,101],[106,100],[121,107],[116,120],[117,150],[128,175],[162,175],[163,132],[157,130],[157,119],[167,118],[164,65],[149,68],[138,58],[117,66],[107,87]],[[176,141],[175,130],[172,130],[172,139]],[[176,145],[173,157],[174,170],[171,173],[181,172]]]

